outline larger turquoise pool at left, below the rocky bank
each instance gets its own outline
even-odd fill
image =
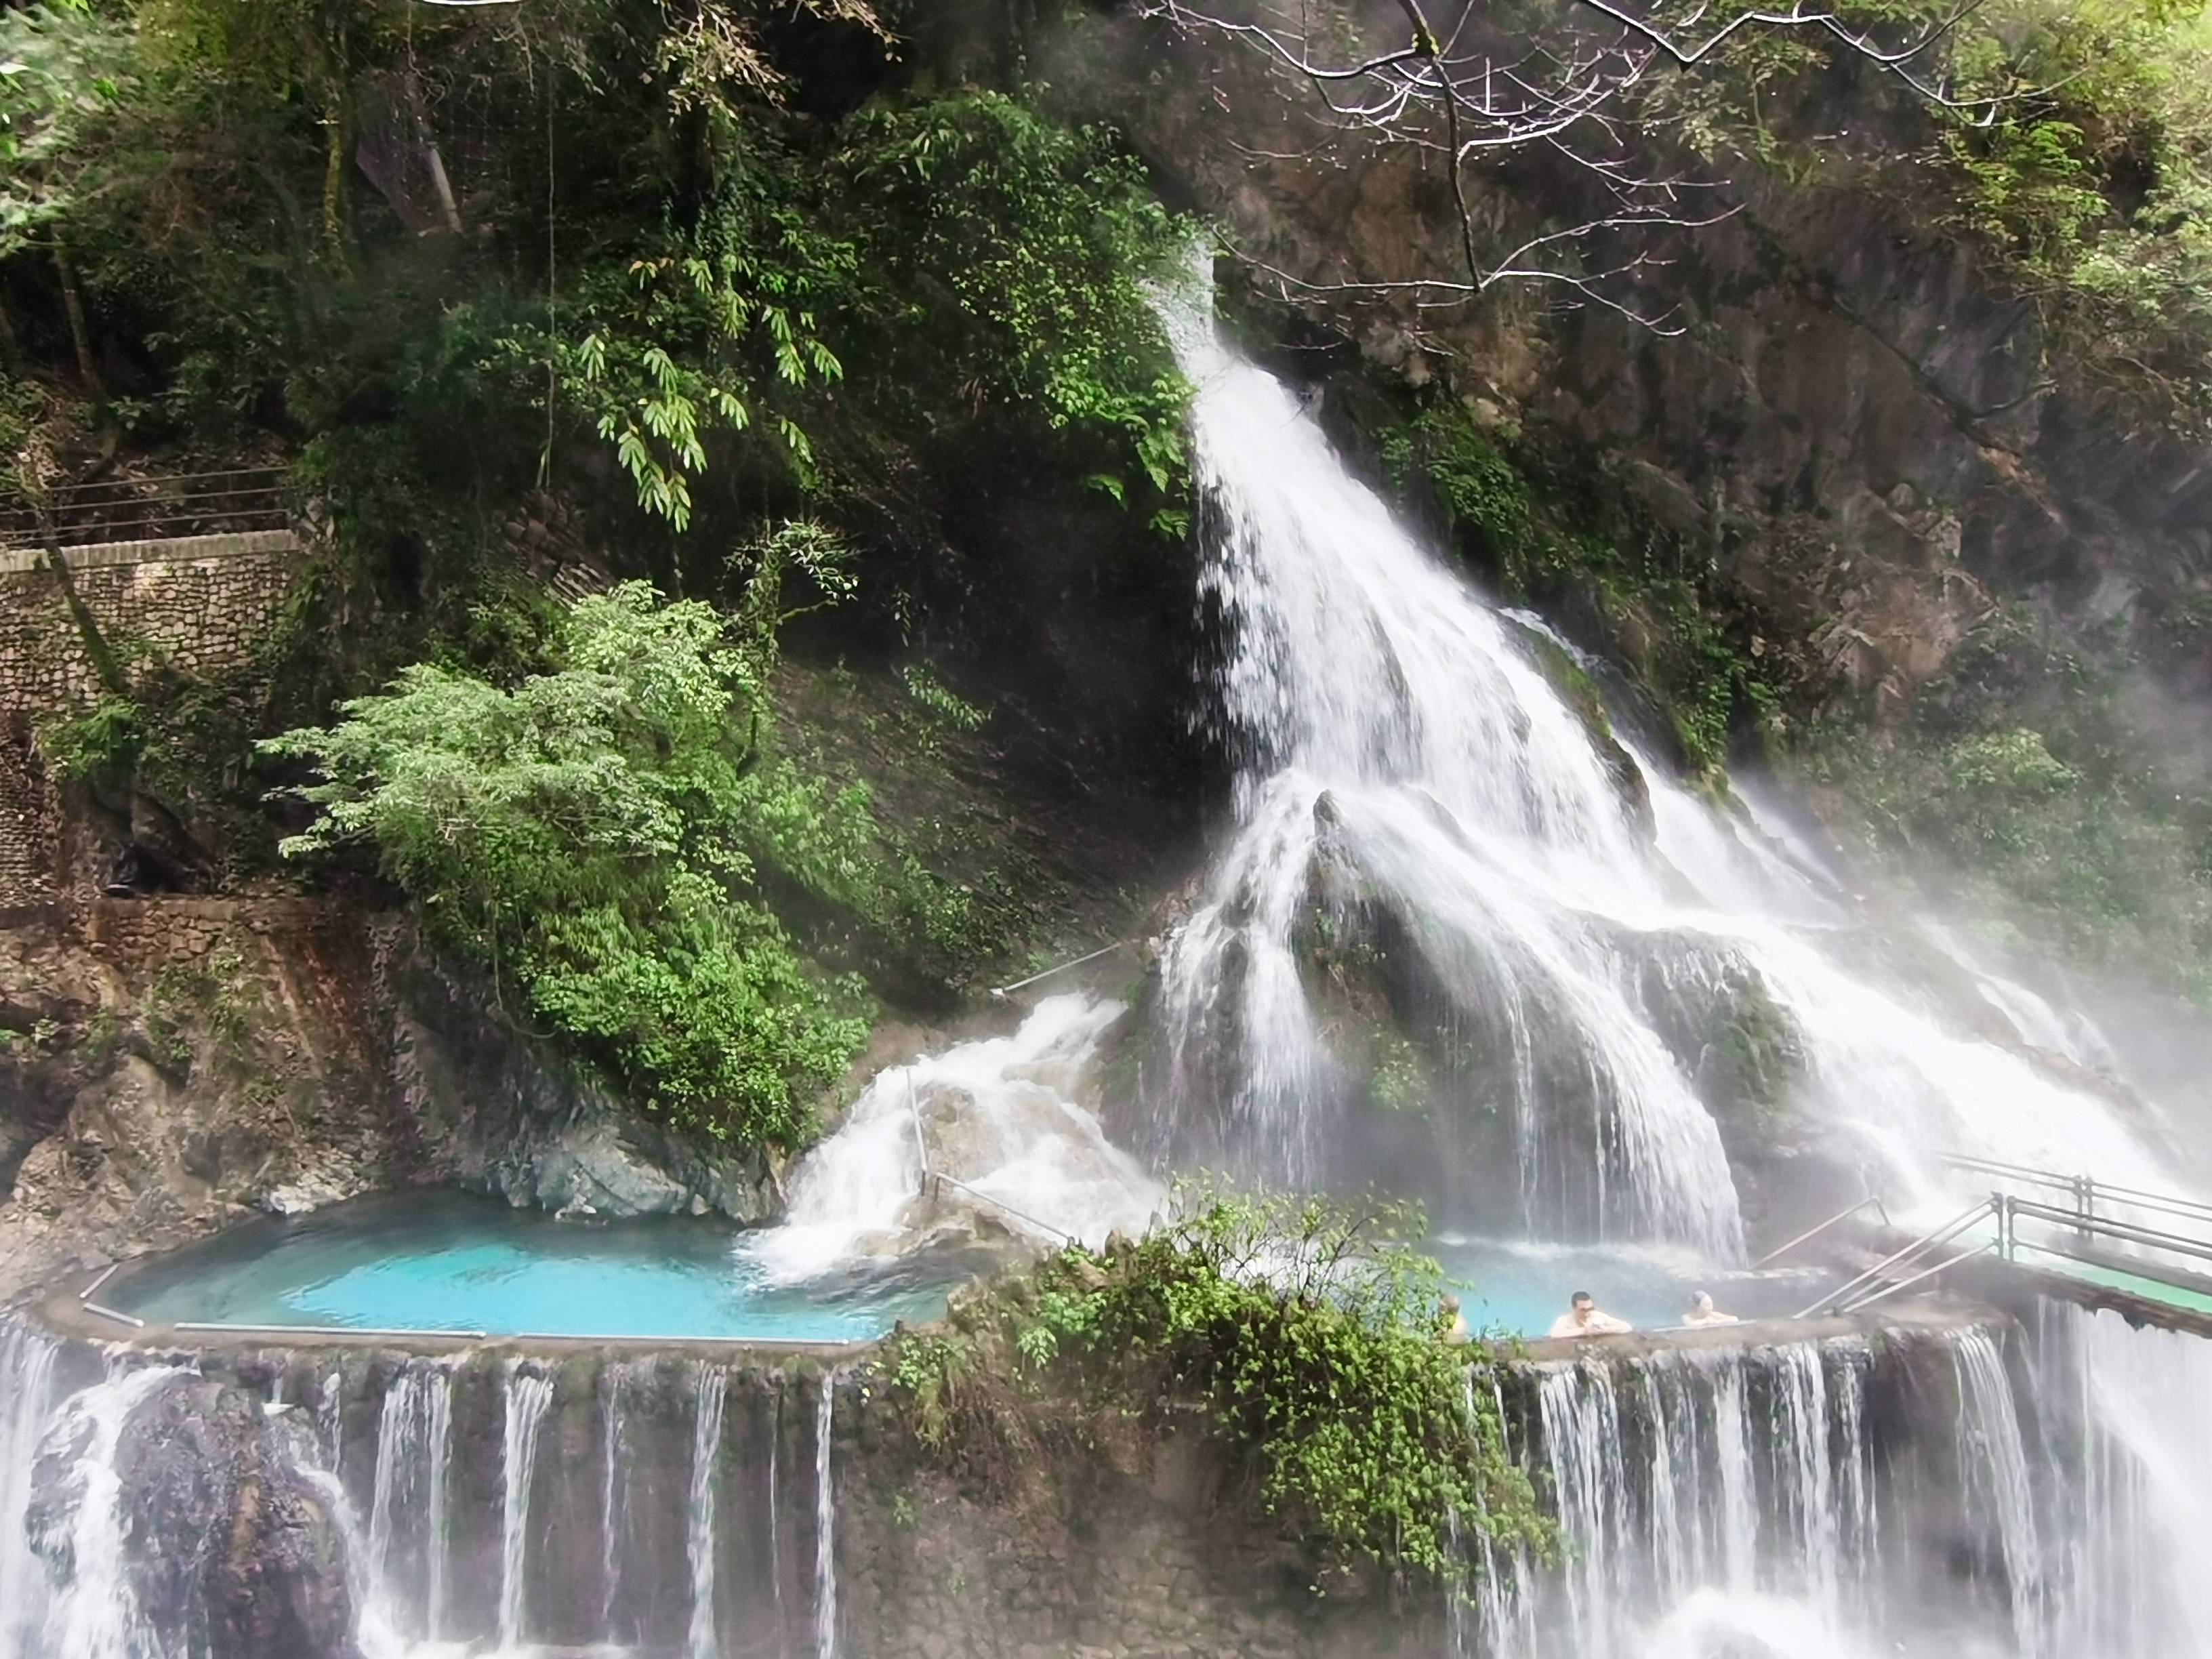
[[[962,1272],[905,1265],[768,1285],[721,1221],[582,1225],[467,1192],[250,1221],[126,1267],[100,1301],[148,1325],[852,1343],[927,1321]]]

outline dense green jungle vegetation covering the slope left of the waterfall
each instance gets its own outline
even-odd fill
[[[257,675],[100,641],[108,697],[44,750],[234,874],[276,830],[372,856],[529,1024],[745,1144],[803,1144],[867,1031],[787,918],[953,982],[1018,945],[779,745],[783,626],[898,630],[900,491],[947,434],[1181,526],[1139,283],[1188,232],[1108,135],[878,88],[889,55],[860,4],[0,13],[0,487],[296,456],[327,524]],[[641,580],[546,597],[500,526],[549,489]]]

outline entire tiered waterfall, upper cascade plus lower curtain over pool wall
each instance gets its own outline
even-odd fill
[[[1239,774],[1159,964],[1161,1064],[1102,1130],[1117,1009],[1062,995],[891,1068],[792,1172],[792,1217],[750,1263],[805,1285],[978,1239],[1097,1241],[1141,1228],[1190,1166],[1383,1181],[1444,1228],[1714,1274],[1743,1267],[1761,1219],[1747,1168],[1770,1212],[1865,1183],[1940,1214],[1958,1199],[1940,1152],[2161,1186],[2154,1113],[2044,1053],[2095,1060],[2101,1037],[1949,936],[1913,947],[1949,991],[1909,971],[1778,816],[1677,783],[1608,721],[1593,666],[1425,551],[1201,305],[1172,332]],[[2006,1029],[1960,1020],[1958,987]],[[1787,1073],[1787,1146],[1721,1075],[1745,1020]],[[1011,1577],[956,1582],[914,1555],[874,1383],[812,1356],[524,1340],[157,1360],[0,1327],[0,1659],[188,1659],[228,1617],[199,1566],[119,1568],[131,1504],[197,1513],[164,1473],[184,1418],[155,1409],[195,1389],[274,1517],[292,1624],[272,1639],[301,1652],[327,1621],[365,1659],[1135,1652],[1152,1648],[1113,1632],[1188,1613],[1232,1553],[1210,1500],[1179,1498],[1155,1504],[1188,1511],[1166,1520],[1077,1517],[1121,1577],[978,1544]],[[1564,1557],[1506,1559],[1464,1528],[1471,1601],[1270,1628],[1314,1659],[2212,1659],[2205,1400],[2212,1347],[2059,1307],[1531,1358],[1498,1405]]]

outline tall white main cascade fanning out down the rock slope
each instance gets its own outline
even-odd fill
[[[1571,703],[1555,670],[1573,648],[1420,546],[1292,389],[1219,341],[1203,296],[1170,332],[1197,385],[1237,785],[1234,836],[1164,964],[1155,1159],[1294,1186],[1394,1172],[1363,1164],[1391,1130],[1347,1064],[1358,1020],[1316,998],[1314,962],[1365,929],[1358,949],[1394,958],[1389,1013],[1427,1002],[1444,1033],[1449,1053],[1422,1055],[1438,1130],[1418,1159],[1444,1172],[1451,1221],[1495,1230],[1502,1197],[1540,1237],[1739,1259],[1701,1071],[1714,1029],[1750,1015],[1778,1026],[1787,1110],[1832,1186],[1938,1203],[1938,1152],[2170,1186],[2154,1124],[2039,1064],[2037,1033],[1955,1018],[1816,860]],[[1502,1157],[1469,1150],[1491,1144]]]

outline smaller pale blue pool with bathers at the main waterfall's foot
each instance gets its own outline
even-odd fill
[[[1818,1298],[1834,1274],[1778,1267],[1745,1272],[1699,1267],[1690,1256],[1655,1245],[1559,1245],[1442,1234],[1422,1250],[1438,1259],[1475,1334],[1544,1336],[1586,1290],[1608,1314],[1637,1329],[1681,1325],[1690,1296],[1712,1292],[1714,1307],[1736,1318],[1790,1318]]]

